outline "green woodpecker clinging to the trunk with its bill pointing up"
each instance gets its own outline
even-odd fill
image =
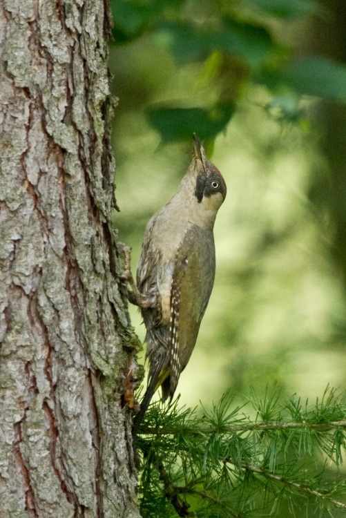
[[[128,276],[132,303],[146,325],[148,386],[137,430],[157,388],[173,398],[189,362],[215,278],[213,226],[226,197],[224,178],[193,134],[193,160],[169,202],[149,220],[137,267]]]

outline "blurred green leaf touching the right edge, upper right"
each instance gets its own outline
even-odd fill
[[[265,70],[256,79],[269,88],[288,85],[302,95],[346,102],[346,66],[326,57],[301,57],[278,70]]]

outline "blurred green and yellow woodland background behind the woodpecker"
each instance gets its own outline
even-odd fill
[[[346,381],[345,0],[113,0],[114,224],[133,247],[191,161],[227,182],[217,274],[178,392]],[[144,340],[140,314],[131,307]],[[144,361],[144,358],[142,358]]]

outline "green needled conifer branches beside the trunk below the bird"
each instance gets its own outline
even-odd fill
[[[296,396],[281,403],[267,387],[262,399],[256,393],[251,399],[256,419],[231,403],[227,391],[218,405],[203,409],[202,417],[178,407],[177,400],[151,406],[137,443],[144,459],[141,490],[147,516],[153,505],[160,505],[163,515],[173,507],[179,517],[196,516],[190,498],[196,499],[200,517],[246,518],[255,508],[269,510],[271,498],[274,515],[281,497],[289,506],[305,497],[307,505],[314,499],[329,513],[331,506],[345,512],[346,503],[336,495],[343,494],[346,479],[338,481],[333,474],[325,485],[321,464],[323,459],[336,467],[343,462],[345,394],[327,387],[315,405],[302,404]]]

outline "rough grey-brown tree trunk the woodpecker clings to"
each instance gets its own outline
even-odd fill
[[[107,1],[0,6],[0,517],[137,517]]]

